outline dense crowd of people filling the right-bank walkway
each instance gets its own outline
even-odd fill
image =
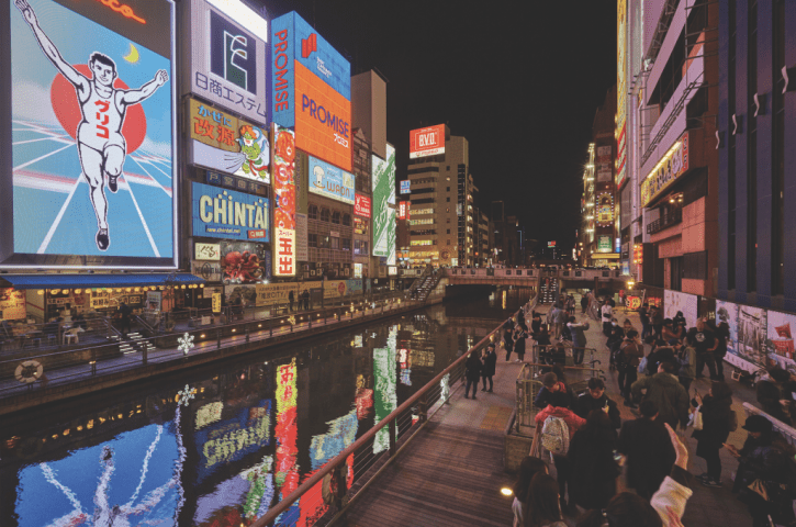
[[[739,460],[732,490],[747,505],[751,525],[796,526],[796,448],[774,430],[772,421],[759,415],[742,426],[748,437],[741,448],[727,442],[739,419],[724,377],[726,323],[713,326],[700,318],[687,327],[681,312],[664,318],[660,307],[644,304],[639,333],[629,318],[618,323],[609,299],[602,301],[594,311],[603,322],[610,367],[624,404],[638,411],[638,418],[623,422],[602,379],[591,379],[587,391],[578,396],[568,383],[565,355],[558,350],[569,340],[573,361],[582,362],[575,350],[585,347],[588,328],[588,321],[570,315],[573,307],[574,299],[570,303],[567,296],[553,305],[548,313],[552,334],[537,313],[530,332],[504,328],[504,343],[517,333],[537,344],[557,341],[540,356],[551,368],[541,377],[534,401],[538,413],[531,452],[537,455],[523,461],[514,486],[515,527],[564,527],[571,525],[565,517],[579,518],[579,527],[681,526],[692,486],[722,486],[722,448]],[[592,307],[582,304],[582,312]],[[504,347],[506,360],[518,352],[515,338]],[[705,367],[710,384],[700,394],[692,384],[704,377]],[[788,372],[770,370],[758,383],[756,395],[769,415],[785,424],[796,419],[796,378]],[[700,475],[688,473],[686,436],[696,440],[694,453],[707,466]],[[623,471],[629,492],[617,493]]]

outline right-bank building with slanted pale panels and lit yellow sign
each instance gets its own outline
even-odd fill
[[[619,2],[619,58],[627,75],[619,75],[617,186],[637,171],[643,231],[634,236],[634,243],[642,240],[636,270],[644,285],[658,288],[655,295],[664,289],[715,294],[719,3]],[[623,235],[628,254],[630,234]]]

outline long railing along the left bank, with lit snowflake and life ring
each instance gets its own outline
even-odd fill
[[[394,298],[347,302],[323,310],[248,318],[204,328],[191,328],[134,339],[108,339],[78,349],[41,352],[24,348],[0,356],[0,401],[21,390],[33,390],[36,381],[65,385],[106,373],[131,371],[149,363],[180,360],[189,355],[218,350],[250,341],[264,341],[317,326],[382,316],[392,311],[425,305],[397,293]],[[33,366],[30,363],[33,361]],[[41,372],[36,373],[36,367]],[[25,388],[26,385],[26,388]],[[2,403],[0,403],[2,404]]]

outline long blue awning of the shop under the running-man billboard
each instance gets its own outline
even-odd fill
[[[0,274],[14,289],[91,289],[146,285],[188,285],[204,283],[189,272],[176,273],[113,273],[113,274]]]

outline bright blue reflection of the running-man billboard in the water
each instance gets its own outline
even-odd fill
[[[145,426],[20,470],[18,525],[171,525],[182,476],[172,429]]]

